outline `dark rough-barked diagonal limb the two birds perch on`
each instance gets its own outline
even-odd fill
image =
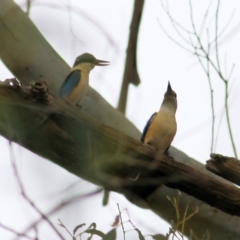
[[[127,197],[145,200],[165,184],[240,216],[238,188],[169,157],[156,156],[148,145],[82,111],[76,112],[75,106],[61,100],[50,96],[52,102],[47,106],[30,103],[32,93],[28,91],[5,83],[0,87],[0,134],[6,138],[81,178]],[[44,112],[51,112],[51,118],[37,131]],[[133,169],[141,172],[137,181],[127,178]]]

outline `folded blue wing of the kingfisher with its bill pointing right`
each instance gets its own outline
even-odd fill
[[[58,97],[68,97],[72,90],[79,84],[81,80],[81,71],[75,70],[71,72],[63,82]]]

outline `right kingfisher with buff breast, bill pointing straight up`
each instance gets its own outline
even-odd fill
[[[175,113],[177,111],[177,94],[168,82],[162,105],[144,127],[141,141],[150,145],[158,154],[167,155],[177,131]]]

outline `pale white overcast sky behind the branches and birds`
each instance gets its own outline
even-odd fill
[[[16,2],[25,10],[25,1],[17,0]],[[91,72],[90,85],[116,107],[123,76],[133,1],[35,0],[32,2],[30,18],[69,65],[72,65],[75,58],[84,52],[90,52],[99,59],[111,62],[110,66],[96,67]],[[182,26],[192,31],[189,1],[168,2],[172,16]],[[206,28],[209,30],[209,38],[214,40],[215,37],[216,3],[216,0],[212,1],[208,8],[209,1],[193,1],[195,26],[205,46],[207,43]],[[209,9],[208,18],[202,27],[202,20],[207,9]],[[232,16],[233,11],[235,13]],[[219,39],[219,58],[224,76],[229,75],[232,65],[235,64],[229,80],[229,113],[233,138],[238,154],[240,154],[238,147],[240,145],[239,1],[222,1],[219,10],[219,32],[231,16],[230,24]],[[138,87],[130,86],[127,117],[142,131],[151,114],[158,111],[169,80],[178,98],[176,116],[178,131],[172,145],[205,163],[209,159],[211,144],[211,105],[208,80],[196,56],[173,43],[162,31],[159,22],[175,41],[185,47],[188,46],[171,27],[160,1],[146,1],[137,56],[141,84]],[[189,39],[187,35],[186,37]],[[215,54],[213,45],[210,56],[214,62],[216,62]],[[226,115],[223,113],[224,84],[213,69],[211,69],[211,76],[216,111],[214,152],[234,156],[226,125]],[[0,79],[10,77],[13,75],[0,62]],[[0,205],[0,222],[20,231],[28,225],[29,219],[36,219],[38,215],[20,196],[9,161],[8,142],[0,138],[0,146],[1,156],[3,156],[0,167],[2,179],[0,194],[3,203]],[[44,211],[71,196],[96,189],[92,184],[79,180],[64,169],[18,145],[14,145],[13,151],[27,193]],[[64,191],[73,183],[75,183],[74,186]],[[119,194],[111,194],[110,203],[105,208],[101,206],[101,201],[102,194],[87,198],[59,211],[51,217],[51,220],[57,224],[57,219],[60,218],[70,230],[83,222],[87,225],[96,222],[99,229],[106,232],[110,230],[110,224],[118,213],[116,204],[119,203],[122,209],[128,208],[131,220],[143,230],[144,234],[165,234],[168,231],[168,225],[164,221],[159,220],[150,211],[135,207]],[[44,227],[42,226],[42,229]],[[59,227],[59,230],[67,238],[68,235],[64,229]],[[1,239],[9,239],[9,236],[11,235],[8,232],[0,228]],[[49,236],[51,239],[57,239],[49,228],[41,231],[40,236],[42,239],[50,239]],[[136,233],[128,233],[127,239],[134,239],[134,236],[137,236]]]

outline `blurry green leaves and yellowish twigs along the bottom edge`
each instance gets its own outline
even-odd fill
[[[171,221],[171,227],[169,228],[169,232],[164,236],[162,234],[155,234],[155,235],[146,235],[144,236],[137,227],[133,224],[133,222],[130,219],[130,215],[127,209],[120,210],[119,204],[118,206],[118,212],[119,214],[115,217],[114,222],[112,223],[112,229],[108,233],[103,233],[102,231],[97,229],[97,224],[93,222],[90,224],[90,226],[86,229],[81,231],[80,233],[79,230],[86,226],[85,223],[77,225],[72,233],[65,227],[65,225],[59,220],[59,226],[63,227],[68,234],[71,236],[72,240],[82,240],[82,235],[83,234],[90,234],[90,236],[87,238],[88,240],[91,240],[94,235],[99,236],[102,238],[102,240],[116,240],[117,239],[117,228],[121,227],[122,232],[123,232],[123,239],[126,240],[126,233],[130,231],[136,231],[138,234],[138,239],[139,240],[145,240],[147,237],[151,237],[153,240],[184,240],[184,232],[185,232],[185,227],[187,222],[195,215],[198,213],[198,207],[196,206],[196,210],[192,213],[189,213],[189,204],[190,202],[187,203],[186,208],[184,211],[181,211],[179,208],[179,202],[180,202],[180,197],[181,197],[181,192],[179,191],[177,197],[174,197],[171,199],[170,197],[167,197],[167,199],[172,203],[172,206],[175,209],[176,213],[176,219]],[[128,216],[127,221],[123,221],[122,214],[126,212]],[[130,223],[132,226],[132,229],[126,230],[125,226],[126,223]],[[193,230],[190,231],[190,239],[191,240],[210,240],[210,233],[206,231],[201,238],[196,236]]]

